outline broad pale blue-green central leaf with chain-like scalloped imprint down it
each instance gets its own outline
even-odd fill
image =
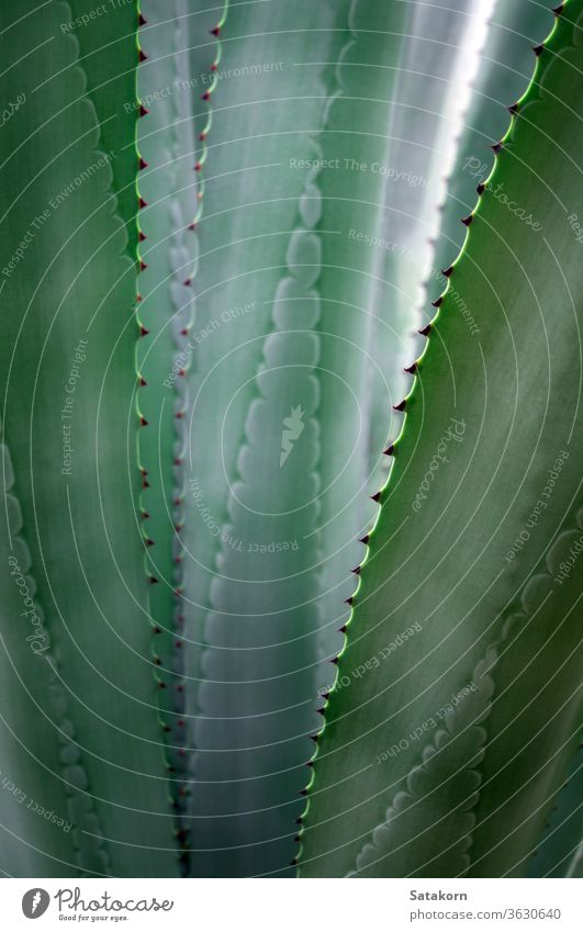
[[[332,3],[314,33],[311,3],[273,2],[234,5],[221,30],[186,525],[191,652],[205,648],[204,682],[188,697],[195,875],[291,873],[317,728],[313,231],[326,99],[317,63],[334,55],[333,24]]]

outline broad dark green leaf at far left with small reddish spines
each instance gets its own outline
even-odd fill
[[[1,13],[4,90],[26,98],[2,131],[4,436],[47,658],[66,703],[47,711],[46,741],[67,721],[74,729],[60,777],[79,808],[79,865],[173,875],[134,507],[135,265],[124,255],[111,158],[100,150],[78,43],[60,29],[71,18],[66,3],[29,0]],[[27,685],[36,666],[22,674]],[[105,869],[90,862],[97,838]]]

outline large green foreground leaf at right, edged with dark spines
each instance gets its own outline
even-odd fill
[[[349,684],[329,699],[315,762],[301,862],[306,876],[354,869],[369,833],[419,763],[422,749],[407,738],[411,723],[422,733],[430,728],[490,644],[501,644],[504,655],[473,810],[470,874],[525,869],[574,752],[581,714],[573,680],[576,576],[560,586],[551,573],[553,548],[564,546],[561,535],[574,526],[581,460],[575,417],[583,267],[568,221],[583,213],[576,168],[581,10],[581,0],[565,5],[539,56],[406,400],[340,658],[339,675]],[[479,339],[469,337],[456,295],[478,321]],[[543,605],[543,595],[535,599],[532,574],[551,587]],[[506,643],[517,600],[523,627]],[[540,629],[530,624],[536,615]],[[403,638],[414,624],[421,631]],[[516,689],[520,644],[524,710],[511,727],[504,697]],[[546,656],[543,674],[539,654]],[[551,705],[554,725],[540,728],[549,699],[541,687],[559,670],[565,681]],[[389,761],[377,763],[395,748]],[[502,768],[504,778],[496,779]],[[457,770],[452,745],[451,773]],[[517,798],[519,811],[509,823],[495,818]],[[419,866],[439,853],[419,849]]]

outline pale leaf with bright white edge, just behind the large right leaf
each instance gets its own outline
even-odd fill
[[[368,496],[386,476],[391,406],[404,394],[403,367],[414,353],[444,154],[471,78],[461,49],[487,9],[482,0],[471,4],[472,15],[450,2],[351,4],[323,141],[335,165],[323,173],[323,226],[337,231],[324,238],[318,283],[327,655],[341,647],[337,628],[349,614],[343,602],[365,552],[358,538],[377,512]]]

